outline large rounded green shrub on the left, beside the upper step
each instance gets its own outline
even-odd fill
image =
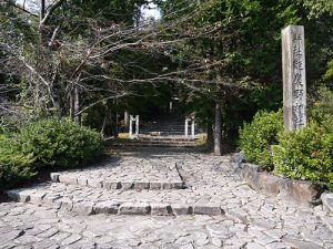
[[[102,147],[99,133],[68,120],[42,120],[21,128],[18,143],[40,167],[70,168],[92,159]]]

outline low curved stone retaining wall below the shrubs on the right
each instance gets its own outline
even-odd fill
[[[243,163],[242,155],[233,156],[233,167],[249,186],[268,196],[278,197],[284,201],[313,206],[321,204],[324,189],[307,180],[287,179],[263,172],[258,165]]]

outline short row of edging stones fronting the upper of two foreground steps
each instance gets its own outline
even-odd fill
[[[183,189],[185,185],[183,181],[108,181],[88,179],[84,177],[72,177],[67,174],[51,173],[51,179],[54,183],[64,183],[71,185],[89,186],[93,188],[105,188],[105,189]]]

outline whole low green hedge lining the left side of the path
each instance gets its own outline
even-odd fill
[[[68,120],[48,118],[17,133],[0,128],[0,190],[34,176],[40,169],[71,168],[102,149],[99,133]]]

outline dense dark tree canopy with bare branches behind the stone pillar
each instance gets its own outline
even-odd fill
[[[142,22],[149,2],[58,0],[44,17],[1,2],[2,121],[58,115],[101,128],[117,113],[176,95],[209,128],[219,103],[230,137],[259,108],[282,105],[281,30],[289,24],[305,27],[309,87],[332,87],[327,1],[155,0],[161,20]]]

